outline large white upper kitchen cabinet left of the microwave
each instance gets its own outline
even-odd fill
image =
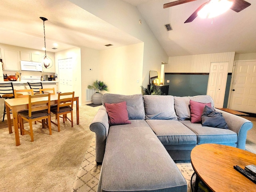
[[[19,52],[16,50],[3,50],[3,65],[4,70],[8,71],[18,71],[20,70],[20,58]]]

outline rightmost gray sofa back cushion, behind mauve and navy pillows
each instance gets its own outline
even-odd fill
[[[212,97],[209,95],[198,95],[192,97],[174,96],[174,106],[178,120],[190,120],[190,100],[201,103],[211,103],[212,108],[214,108],[214,102],[212,100]]]

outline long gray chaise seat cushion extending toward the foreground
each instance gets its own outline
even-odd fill
[[[98,191],[186,192],[186,180],[157,136],[146,121],[136,121],[109,128]]]

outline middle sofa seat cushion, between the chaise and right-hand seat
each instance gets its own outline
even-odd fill
[[[196,144],[196,134],[176,120],[146,120],[158,139],[166,145]]]

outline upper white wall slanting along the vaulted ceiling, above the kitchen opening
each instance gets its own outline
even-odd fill
[[[70,0],[70,2],[144,42],[140,85],[148,85],[150,70],[156,70],[160,74],[161,63],[167,63],[168,56],[135,6],[121,0]],[[139,20],[142,20],[141,25]]]

